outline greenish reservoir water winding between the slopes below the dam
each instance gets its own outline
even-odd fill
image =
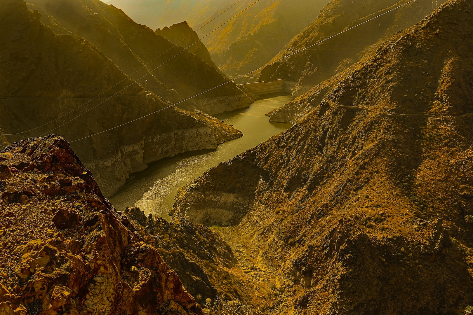
[[[287,102],[290,96],[260,99],[249,108],[227,111],[216,118],[241,130],[243,135],[219,145],[214,150],[192,151],[149,164],[146,170],[133,174],[117,193],[109,198],[118,211],[137,206],[148,215],[170,220],[177,189],[200,177],[206,170],[268,140],[288,129],[291,124],[270,123],[266,114]]]

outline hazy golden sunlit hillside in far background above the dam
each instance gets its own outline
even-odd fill
[[[244,0],[238,3],[198,34],[210,33],[254,2]],[[318,16],[326,3],[327,0],[261,0],[203,41],[211,54],[218,54],[217,65],[222,71],[232,76],[243,75],[271,60]],[[188,22],[196,28],[209,19],[205,12],[201,12]]]

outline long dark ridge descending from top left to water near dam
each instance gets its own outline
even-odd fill
[[[170,102],[187,99],[228,82],[198,56],[175,47],[149,27],[135,23],[122,10],[99,0],[29,2],[53,17],[64,29],[96,45],[132,79],[140,83],[148,80],[149,90]],[[48,16],[42,17],[42,21],[55,26]],[[147,75],[153,69],[156,70]],[[247,107],[251,102],[250,97],[229,82],[178,106],[214,114]]]

